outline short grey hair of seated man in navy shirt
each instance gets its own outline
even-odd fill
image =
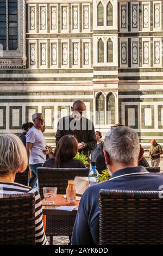
[[[109,154],[112,161],[128,165],[138,161],[139,137],[130,127],[116,127],[106,135],[104,150]]]

